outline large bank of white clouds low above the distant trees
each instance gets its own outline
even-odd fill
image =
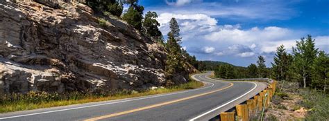
[[[217,25],[217,19],[209,15],[169,12],[162,13],[158,17],[162,33],[169,32],[169,21],[172,17],[177,19],[180,26],[183,46],[189,48],[188,51],[192,53],[237,57],[273,55],[281,44],[285,45],[287,50],[291,50],[300,37],[307,35],[301,30],[278,26],[242,29],[240,24]],[[328,47],[326,48],[329,46],[328,36],[314,38],[317,47],[328,51]]]

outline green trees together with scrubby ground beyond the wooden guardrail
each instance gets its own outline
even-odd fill
[[[311,35],[296,41],[292,53],[284,45],[277,48],[271,68],[260,55],[248,67],[219,64],[214,77],[278,80],[267,120],[328,120],[329,119],[329,54],[315,48]]]

